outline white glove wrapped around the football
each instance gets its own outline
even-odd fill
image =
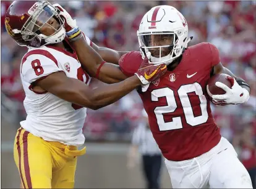
[[[236,105],[238,103],[247,102],[250,97],[249,91],[239,86],[239,84],[236,82],[236,79],[234,79],[233,77],[227,76],[227,79],[232,84],[231,89],[222,82],[216,82],[215,85],[225,90],[226,94],[213,95],[213,103],[215,103],[216,105],[221,105],[223,103]]]

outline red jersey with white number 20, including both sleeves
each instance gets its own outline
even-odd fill
[[[213,66],[220,62],[218,49],[203,42],[188,47],[173,71],[166,71],[146,92],[140,93],[150,129],[163,156],[171,161],[192,159],[220,142],[220,129],[211,115],[206,86]],[[142,63],[140,52],[119,60],[132,76]]]

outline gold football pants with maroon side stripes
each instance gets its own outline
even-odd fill
[[[49,142],[22,127],[14,142],[14,160],[23,188],[74,188],[77,156],[86,149]]]

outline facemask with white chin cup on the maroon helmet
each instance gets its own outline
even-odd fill
[[[64,20],[59,15],[59,9],[53,7],[47,1],[36,2],[36,4],[38,5],[37,9],[30,15],[20,31],[23,40],[29,41],[29,44],[33,47],[63,41],[66,31],[64,29]],[[53,18],[59,23],[58,28],[54,28],[48,23]],[[49,34],[49,36],[42,34],[40,29],[44,25],[50,26],[54,30],[54,33]]]

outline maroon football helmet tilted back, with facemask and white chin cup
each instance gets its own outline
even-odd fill
[[[50,36],[42,34],[40,28],[48,24],[51,18],[59,23],[59,28]],[[20,46],[40,47],[61,42],[65,38],[64,20],[59,9],[48,1],[14,1],[6,11],[5,25],[7,33]],[[51,25],[49,25],[51,26]],[[53,26],[51,26],[53,28]]]

